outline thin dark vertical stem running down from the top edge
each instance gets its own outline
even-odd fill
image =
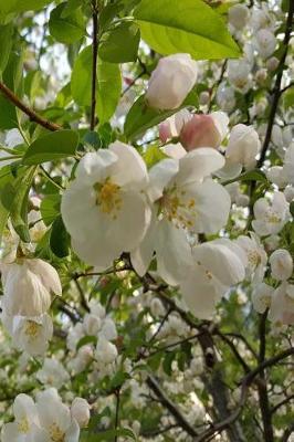
[[[97,56],[98,56],[98,7],[94,0],[93,7],[93,42],[92,42],[92,99],[91,99],[91,130],[96,126],[96,85],[97,85]]]

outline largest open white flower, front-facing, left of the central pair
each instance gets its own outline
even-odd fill
[[[146,165],[135,148],[116,141],[86,154],[62,198],[61,212],[77,255],[107,269],[135,249],[149,224]]]

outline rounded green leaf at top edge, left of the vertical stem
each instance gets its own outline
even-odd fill
[[[50,14],[49,30],[61,43],[71,44],[84,36],[85,20],[80,9],[64,13],[67,3],[61,3]]]

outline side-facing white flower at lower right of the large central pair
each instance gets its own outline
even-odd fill
[[[210,319],[216,304],[234,284],[244,280],[245,254],[229,240],[210,241],[193,249],[193,266],[180,283],[189,309]]]

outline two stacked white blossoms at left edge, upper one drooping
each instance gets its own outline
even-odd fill
[[[61,296],[57,272],[45,261],[19,257],[1,264],[3,286],[1,319],[12,344],[31,356],[41,356],[53,336],[46,313],[54,296]]]

